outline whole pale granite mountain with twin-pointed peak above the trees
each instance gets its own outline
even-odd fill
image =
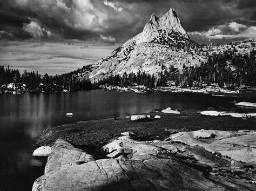
[[[153,13],[141,33],[92,64],[91,71],[80,76],[91,81],[138,71],[159,76],[171,67],[182,71],[184,67],[199,66],[207,62],[208,53],[221,50],[224,47],[212,49],[193,42],[171,8],[159,18]],[[250,52],[250,47],[242,52]]]

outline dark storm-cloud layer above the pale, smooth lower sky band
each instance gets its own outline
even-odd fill
[[[255,38],[255,0],[0,0],[0,37],[124,43],[173,7],[199,43]]]

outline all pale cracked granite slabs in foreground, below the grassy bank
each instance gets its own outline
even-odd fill
[[[255,131],[171,134],[139,141],[134,133],[103,146],[104,159],[58,139],[45,174],[32,190],[251,190],[255,188]],[[132,135],[130,137],[130,135]],[[240,162],[241,161],[241,162]],[[49,168],[51,167],[51,168]],[[231,172],[232,170],[232,172]],[[234,176],[234,173],[238,172]],[[246,177],[246,179],[245,179]]]

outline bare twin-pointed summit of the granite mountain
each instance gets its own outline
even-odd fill
[[[189,39],[173,8],[160,18],[153,13],[149,22],[144,26],[143,32],[140,33],[139,42],[150,42],[153,38],[159,36],[160,30],[165,32],[176,32]]]

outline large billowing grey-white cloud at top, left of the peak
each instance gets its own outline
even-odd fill
[[[60,30],[66,32],[67,27],[79,32],[84,31],[85,35],[93,32],[95,36],[117,30],[125,33],[134,32],[138,26],[145,24],[144,22],[142,24],[142,15],[138,11],[149,9],[149,5],[138,8],[137,3],[129,5],[125,1],[116,0],[13,0],[13,2],[15,8],[36,15],[36,21],[40,21],[55,32]],[[63,28],[60,29],[59,26]]]

